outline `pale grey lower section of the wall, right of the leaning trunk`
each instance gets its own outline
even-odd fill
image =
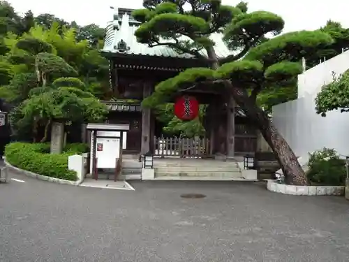
[[[297,157],[323,147],[349,155],[349,112],[339,110],[321,117],[315,112],[316,94],[275,105],[273,122]]]

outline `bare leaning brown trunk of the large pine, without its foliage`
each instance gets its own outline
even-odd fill
[[[285,182],[287,184],[306,185],[306,174],[302,166],[299,165],[295,153],[272,122],[270,122],[266,113],[252,99],[248,98],[246,89],[236,87],[235,85],[232,86],[228,81],[225,82],[225,85],[231,90],[232,96],[244,110],[246,116],[260,129],[260,133],[267,140],[269,146],[272,147],[285,175]]]

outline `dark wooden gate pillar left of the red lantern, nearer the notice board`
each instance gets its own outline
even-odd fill
[[[145,83],[143,86],[143,99],[151,94],[151,85]],[[150,120],[151,120],[151,110],[150,108],[142,108],[142,141],[140,152],[145,154],[150,150]]]

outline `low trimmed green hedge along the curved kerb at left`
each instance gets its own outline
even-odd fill
[[[68,157],[88,152],[84,144],[67,145],[62,154],[50,154],[48,143],[10,143],[5,147],[6,161],[17,168],[47,177],[76,181],[77,175],[68,170]]]

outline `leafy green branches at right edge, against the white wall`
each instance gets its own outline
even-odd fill
[[[349,70],[337,78],[334,75],[333,82],[322,87],[315,99],[315,110],[322,117],[337,109],[349,112]]]

